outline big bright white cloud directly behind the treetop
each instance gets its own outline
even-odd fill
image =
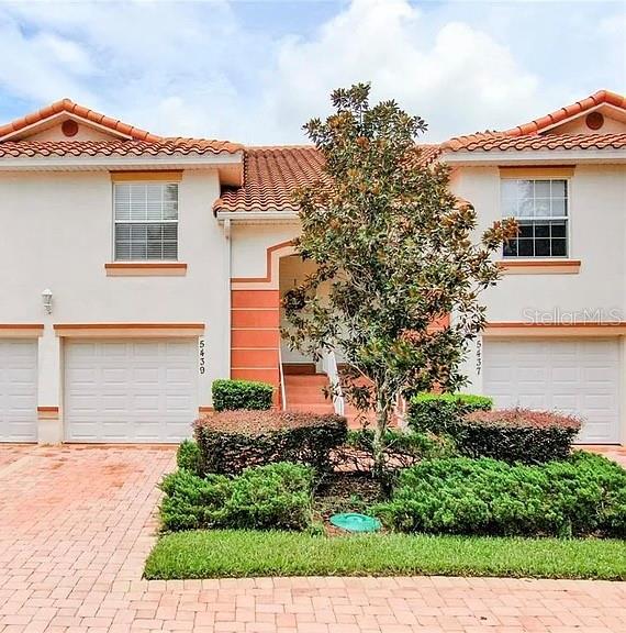
[[[337,86],[371,80],[375,98],[394,98],[424,116],[436,138],[524,120],[538,79],[488,34],[461,22],[440,26],[404,0],[355,0],[311,41],[283,43],[267,96],[270,120],[306,120],[326,110]]]

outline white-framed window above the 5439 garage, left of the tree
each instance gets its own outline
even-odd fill
[[[178,184],[113,185],[116,262],[178,259]]]

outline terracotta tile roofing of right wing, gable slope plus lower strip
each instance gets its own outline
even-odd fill
[[[524,123],[506,130],[504,132],[478,132],[465,136],[450,138],[441,145],[444,151],[449,152],[473,152],[490,149],[621,149],[626,147],[625,134],[549,134],[547,129],[561,123],[572,116],[592,110],[603,103],[621,108],[626,111],[626,98],[611,92],[600,90],[577,101],[571,106],[560,108],[550,114],[535,119],[529,123]]]

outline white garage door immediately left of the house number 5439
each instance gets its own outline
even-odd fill
[[[178,442],[197,418],[197,343],[69,341],[65,424],[69,442]]]

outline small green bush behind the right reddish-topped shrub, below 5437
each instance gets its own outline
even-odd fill
[[[467,413],[489,411],[492,407],[493,400],[487,396],[417,393],[409,403],[407,421],[415,431],[445,434],[450,433]]]

